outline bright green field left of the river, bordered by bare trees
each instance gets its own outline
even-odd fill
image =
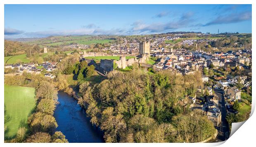
[[[13,138],[36,106],[35,89],[5,85],[5,138]],[[7,122],[6,122],[7,121]]]

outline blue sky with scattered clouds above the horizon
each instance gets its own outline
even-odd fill
[[[5,38],[251,33],[251,5],[5,5]]]

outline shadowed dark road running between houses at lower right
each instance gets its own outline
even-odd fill
[[[228,121],[225,119],[226,115],[227,115],[227,111],[226,111],[226,106],[225,106],[225,99],[223,96],[223,90],[216,90],[214,89],[214,92],[216,93],[216,95],[219,98],[219,109],[221,111],[221,125],[220,125],[220,129],[219,129],[219,133],[217,136],[218,140],[224,141],[227,140],[229,138],[229,125],[228,125]]]

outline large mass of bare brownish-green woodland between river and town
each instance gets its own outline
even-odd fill
[[[113,71],[99,84],[81,84],[78,103],[104,131],[106,142],[199,142],[215,133],[203,111],[189,108],[187,96],[199,85],[200,72]]]

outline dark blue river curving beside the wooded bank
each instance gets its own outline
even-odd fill
[[[58,101],[54,117],[58,127],[69,142],[104,142],[100,128],[92,126],[90,118],[86,117],[85,110],[77,101],[64,93],[58,92]]]

